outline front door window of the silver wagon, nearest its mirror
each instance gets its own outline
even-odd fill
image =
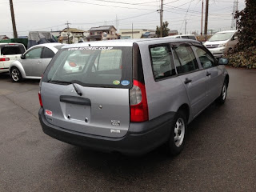
[[[203,50],[201,47],[198,46],[194,46],[194,48],[201,62],[202,68],[206,69],[215,66],[214,58],[212,58],[210,54],[206,52],[206,50]]]

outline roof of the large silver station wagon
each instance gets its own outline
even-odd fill
[[[75,47],[83,47],[83,46],[133,46],[134,42],[138,44],[148,43],[158,44],[165,42],[198,42],[191,39],[182,39],[182,38],[130,38],[130,39],[116,39],[116,40],[106,40],[106,41],[96,41],[96,42],[80,42],[75,44],[66,44],[62,46],[61,49],[65,48],[75,48]]]

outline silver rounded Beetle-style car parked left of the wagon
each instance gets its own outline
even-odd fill
[[[41,79],[51,58],[62,46],[62,43],[53,42],[30,47],[18,61],[10,64],[10,78],[14,82],[23,78]]]

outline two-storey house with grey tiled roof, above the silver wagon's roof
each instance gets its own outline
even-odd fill
[[[104,32],[107,34],[107,40],[118,39],[117,29],[114,26],[98,26],[90,28],[90,34],[86,37],[86,42],[101,41]]]

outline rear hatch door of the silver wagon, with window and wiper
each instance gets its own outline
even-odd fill
[[[124,136],[130,125],[131,69],[132,47],[59,51],[42,78],[47,121],[85,134]]]

